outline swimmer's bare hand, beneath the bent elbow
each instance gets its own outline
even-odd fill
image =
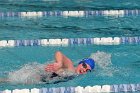
[[[61,68],[61,64],[59,63],[52,63],[52,64],[48,64],[46,67],[45,67],[45,71],[46,72],[56,72],[58,71],[60,68]]]

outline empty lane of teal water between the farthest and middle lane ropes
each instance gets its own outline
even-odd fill
[[[140,36],[140,17],[6,17],[0,40]],[[66,34],[68,33],[68,34]],[[23,35],[24,34],[24,35]]]

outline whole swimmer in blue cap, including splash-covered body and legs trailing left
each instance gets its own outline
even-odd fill
[[[93,70],[95,62],[91,58],[85,58],[78,63],[77,67],[74,67],[73,62],[66,57],[60,51],[55,53],[54,63],[43,66],[29,66],[31,71],[28,71],[28,67],[23,67],[20,70],[10,74],[8,78],[0,78],[1,83],[20,83],[20,84],[39,84],[39,83],[58,83],[73,79],[75,75],[86,74]],[[35,68],[35,69],[34,69]],[[27,71],[27,72],[26,72]],[[26,72],[26,73],[25,73]],[[21,74],[23,73],[23,74]],[[15,76],[19,77],[15,78]]]

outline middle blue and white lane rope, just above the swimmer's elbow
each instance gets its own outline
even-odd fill
[[[140,44],[140,37],[0,40],[0,47]]]

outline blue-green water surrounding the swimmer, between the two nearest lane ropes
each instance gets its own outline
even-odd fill
[[[75,77],[67,82],[56,84],[9,84],[1,83],[2,89],[42,88],[63,86],[93,86],[105,84],[138,83],[140,78],[139,45],[98,46],[82,45],[68,47],[15,47],[0,49],[0,76],[8,77],[8,73],[18,71],[32,63],[47,64],[54,59],[55,51],[62,51],[76,66],[82,58],[96,58],[95,71]],[[93,53],[93,54],[92,54]],[[100,60],[99,60],[100,59]],[[9,65],[10,64],[10,65]],[[26,73],[21,73],[25,74]],[[18,77],[18,76],[17,76]],[[90,79],[90,82],[89,82]]]

